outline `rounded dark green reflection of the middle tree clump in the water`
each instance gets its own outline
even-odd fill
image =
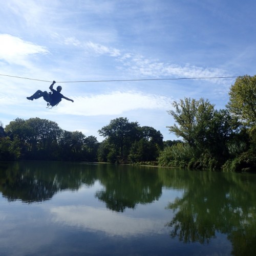
[[[111,166],[111,165],[110,165]],[[96,197],[114,211],[135,208],[137,204],[152,203],[162,195],[162,182],[154,170],[133,166],[109,168],[99,177],[104,189]]]

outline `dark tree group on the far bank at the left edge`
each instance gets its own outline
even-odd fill
[[[0,138],[0,160],[96,161],[98,144],[93,136],[63,131],[47,119],[16,118]]]

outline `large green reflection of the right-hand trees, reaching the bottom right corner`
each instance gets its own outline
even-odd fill
[[[183,182],[183,197],[166,207],[175,213],[170,237],[204,244],[225,233],[233,255],[255,255],[255,176],[188,172]]]

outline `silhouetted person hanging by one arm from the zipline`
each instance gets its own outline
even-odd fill
[[[30,97],[27,97],[27,99],[29,100],[33,100],[33,99],[38,99],[40,97],[44,97],[44,100],[47,101],[47,105],[51,105],[51,106],[55,106],[57,105],[61,99],[66,99],[66,100],[69,100],[69,101],[72,101],[74,102],[73,99],[69,99],[65,96],[63,96],[60,92],[62,90],[62,87],[61,86],[57,86],[57,91],[53,89],[53,85],[54,85],[55,81],[52,82],[52,84],[50,85],[50,90],[51,92],[48,93],[47,91],[45,92],[42,92],[40,90],[36,91],[32,96]]]

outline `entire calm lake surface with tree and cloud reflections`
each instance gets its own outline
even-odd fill
[[[256,174],[0,162],[0,255],[256,255]]]

